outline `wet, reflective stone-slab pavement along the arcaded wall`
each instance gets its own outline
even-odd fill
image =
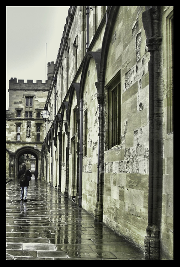
[[[17,180],[6,184],[7,260],[143,260],[143,251],[73,200],[34,177],[27,202]]]

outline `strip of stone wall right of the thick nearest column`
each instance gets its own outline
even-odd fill
[[[161,259],[173,258],[173,7],[165,6],[162,12],[163,34],[163,192]]]

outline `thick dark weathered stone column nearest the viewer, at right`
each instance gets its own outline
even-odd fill
[[[149,193],[148,226],[144,239],[145,259],[160,259],[160,229],[162,214],[162,117],[163,93],[161,77],[160,8],[146,7],[143,12],[143,27],[150,52],[149,61]]]

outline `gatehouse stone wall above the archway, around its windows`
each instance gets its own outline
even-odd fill
[[[19,142],[31,143],[36,142],[36,124],[44,124],[41,116],[37,117],[37,112],[42,112],[48,92],[48,85],[37,81],[33,83],[32,80],[24,82],[16,78],[10,79],[9,85],[9,110],[7,110],[7,142],[15,142],[11,146],[16,146],[16,125],[21,123],[21,133]],[[33,98],[32,118],[26,118],[26,96]],[[17,117],[17,110],[21,111],[20,117]],[[27,138],[27,122],[31,121],[31,135]],[[43,127],[41,128],[40,141],[44,140]]]

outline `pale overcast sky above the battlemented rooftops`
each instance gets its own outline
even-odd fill
[[[47,63],[55,63],[58,55],[68,9],[69,6],[6,6],[6,91],[11,77],[45,82]]]

